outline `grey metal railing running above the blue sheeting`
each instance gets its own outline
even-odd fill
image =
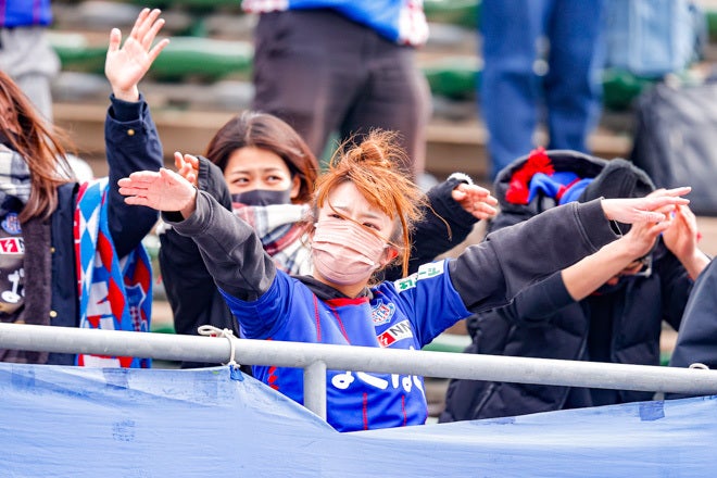
[[[304,405],[326,418],[326,370],[717,394],[717,370],[0,324],[0,348],[304,369]]]

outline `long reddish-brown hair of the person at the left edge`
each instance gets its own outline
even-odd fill
[[[71,181],[72,169],[62,143],[67,135],[48,125],[20,87],[0,72],[0,133],[20,153],[30,172],[30,194],[20,213],[21,222],[49,217],[58,207],[58,187]]]

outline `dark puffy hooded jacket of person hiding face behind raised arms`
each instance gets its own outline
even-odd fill
[[[573,151],[548,151],[546,156],[555,172],[573,172],[579,178],[588,179],[580,185],[581,191],[577,194],[580,202],[600,197],[642,197],[654,189],[643,171],[624,160],[606,161]],[[529,156],[518,159],[499,174],[495,196],[501,213],[490,230],[525,221],[557,204],[550,188],[533,191],[528,203],[516,204],[506,200],[511,196],[508,191],[520,189],[515,179],[519,178],[519,172],[528,162]],[[563,196],[569,193],[564,191]],[[628,230],[626,225],[619,227],[621,232]],[[562,238],[566,244],[575,239]],[[621,279],[614,287],[603,286],[579,302],[567,292],[559,272],[534,282],[508,305],[469,317],[467,325],[473,342],[465,352],[658,365],[662,322],[667,320],[675,329],[679,327],[692,280],[662,241],[657,242],[651,256],[649,277],[636,276]],[[514,416],[651,398],[650,392],[628,390],[452,380],[440,422]]]

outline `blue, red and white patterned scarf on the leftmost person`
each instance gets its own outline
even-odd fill
[[[75,209],[75,257],[79,289],[79,327],[149,331],[152,269],[140,243],[116,255],[108,222],[106,177],[80,185]],[[151,360],[80,354],[77,365],[149,368]]]

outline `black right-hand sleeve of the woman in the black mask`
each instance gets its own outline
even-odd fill
[[[451,196],[461,183],[458,178],[449,178],[428,191],[430,207],[425,211],[424,219],[416,224],[413,232],[408,274],[418,271],[420,264],[433,261],[437,255],[463,242],[478,222]],[[395,280],[401,278],[401,266],[394,265],[386,269],[385,277]]]

